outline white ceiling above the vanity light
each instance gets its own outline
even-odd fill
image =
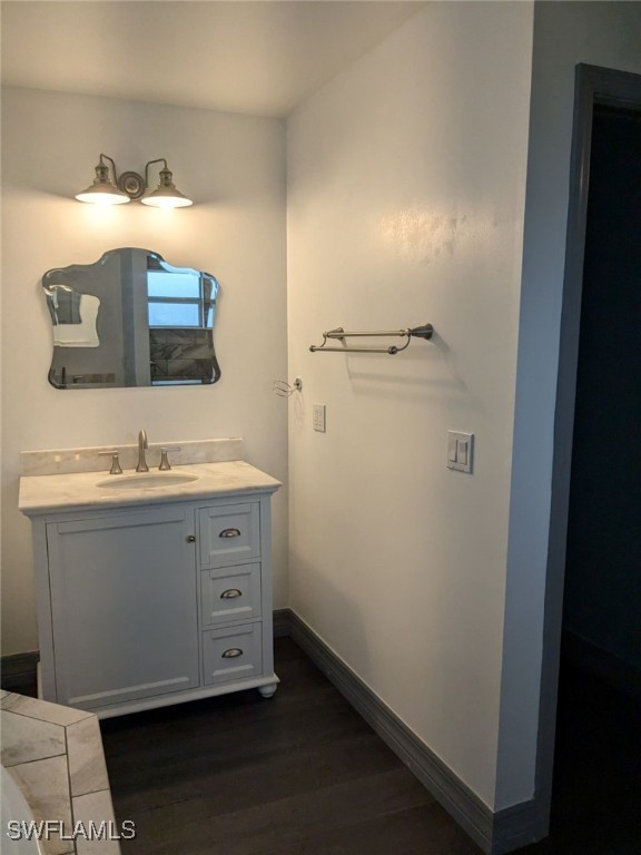
[[[287,116],[422,6],[3,0],[2,82]]]

